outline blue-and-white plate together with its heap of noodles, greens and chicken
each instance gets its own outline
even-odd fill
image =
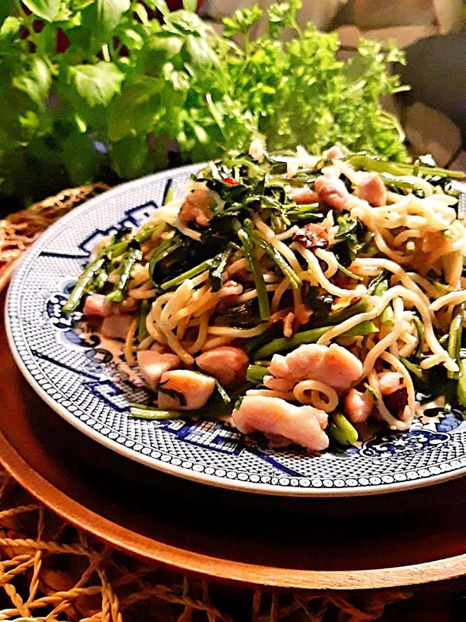
[[[114,188],[22,259],[17,364],[93,439],[211,485],[325,496],[464,475],[462,177],[256,140]]]

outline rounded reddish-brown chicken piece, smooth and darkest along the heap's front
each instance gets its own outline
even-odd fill
[[[249,358],[241,348],[220,346],[197,356],[196,364],[222,386],[230,388],[245,382]]]

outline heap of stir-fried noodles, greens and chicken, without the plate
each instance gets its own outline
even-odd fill
[[[424,402],[466,407],[461,177],[255,140],[101,241],[64,311],[124,340],[155,393],[135,417],[231,412],[244,434],[316,451],[368,419],[407,430]]]

